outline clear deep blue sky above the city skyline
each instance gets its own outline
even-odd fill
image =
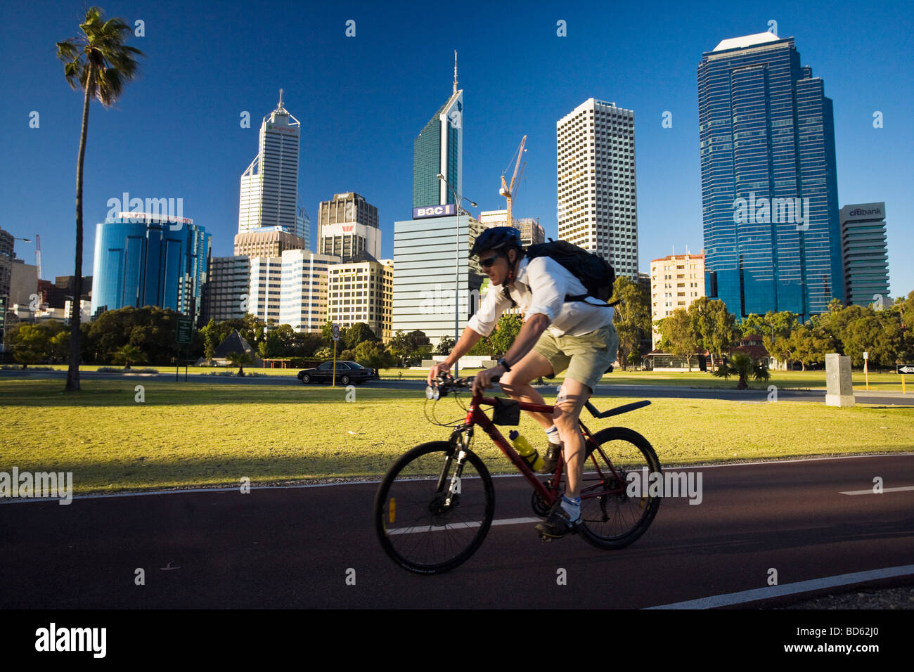
[[[0,227],[41,236],[43,275],[73,272],[80,93],[55,43],[78,32],[82,2],[5,0],[0,79]],[[635,114],[640,268],[702,245],[696,67],[727,37],[778,22],[834,101],[841,205],[886,201],[891,294],[914,289],[914,87],[909,3],[104,2],[142,19],[142,76],[111,110],[94,103],[86,154],[83,271],[107,201],[182,197],[185,217],[231,254],[239,176],[257,153],[278,91],[302,122],[300,193],[317,203],[357,191],[377,205],[382,252],[409,219],[412,142],[451,92],[464,90],[464,195],[504,208],[499,177],[527,134],[515,215],[556,236],[556,121],[590,97]],[[345,37],[347,19],[356,37]],[[556,22],[568,37],[557,37]],[[40,127],[29,128],[37,111]],[[249,111],[250,129],[239,126]],[[673,128],[661,126],[664,111]],[[884,127],[873,127],[873,112]],[[313,229],[312,240],[315,232]],[[33,243],[16,243],[34,259]]]

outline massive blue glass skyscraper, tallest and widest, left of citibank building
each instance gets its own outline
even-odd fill
[[[792,37],[702,54],[698,133],[708,298],[738,319],[843,300],[832,101]]]

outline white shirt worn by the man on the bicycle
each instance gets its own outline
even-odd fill
[[[504,285],[491,285],[479,310],[467,322],[477,334],[489,336],[498,318],[511,307],[503,289]],[[522,259],[514,286],[508,289],[525,322],[530,315],[546,315],[553,336],[583,336],[612,322],[613,309],[592,296],[584,301],[565,301],[566,294],[586,294],[587,288],[551,257]]]

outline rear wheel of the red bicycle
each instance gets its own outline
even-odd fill
[[[647,439],[626,427],[608,427],[594,434],[593,438],[600,445],[600,451],[594,451],[588,443],[589,452],[581,482],[581,536],[598,549],[622,549],[651,526],[661,497],[630,497],[624,490],[618,494],[583,496],[605,489],[607,485],[613,489],[624,488],[627,486],[626,475],[644,467],[648,473],[660,472],[660,460]],[[591,453],[599,472],[591,460]],[[617,476],[612,475],[606,458],[611,461],[618,477],[622,478],[622,483],[615,482]]]

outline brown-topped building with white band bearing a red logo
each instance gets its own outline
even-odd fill
[[[381,229],[377,208],[355,192],[334,194],[321,201],[318,210],[317,250],[322,254],[352,261],[363,253],[377,260],[381,256]]]

